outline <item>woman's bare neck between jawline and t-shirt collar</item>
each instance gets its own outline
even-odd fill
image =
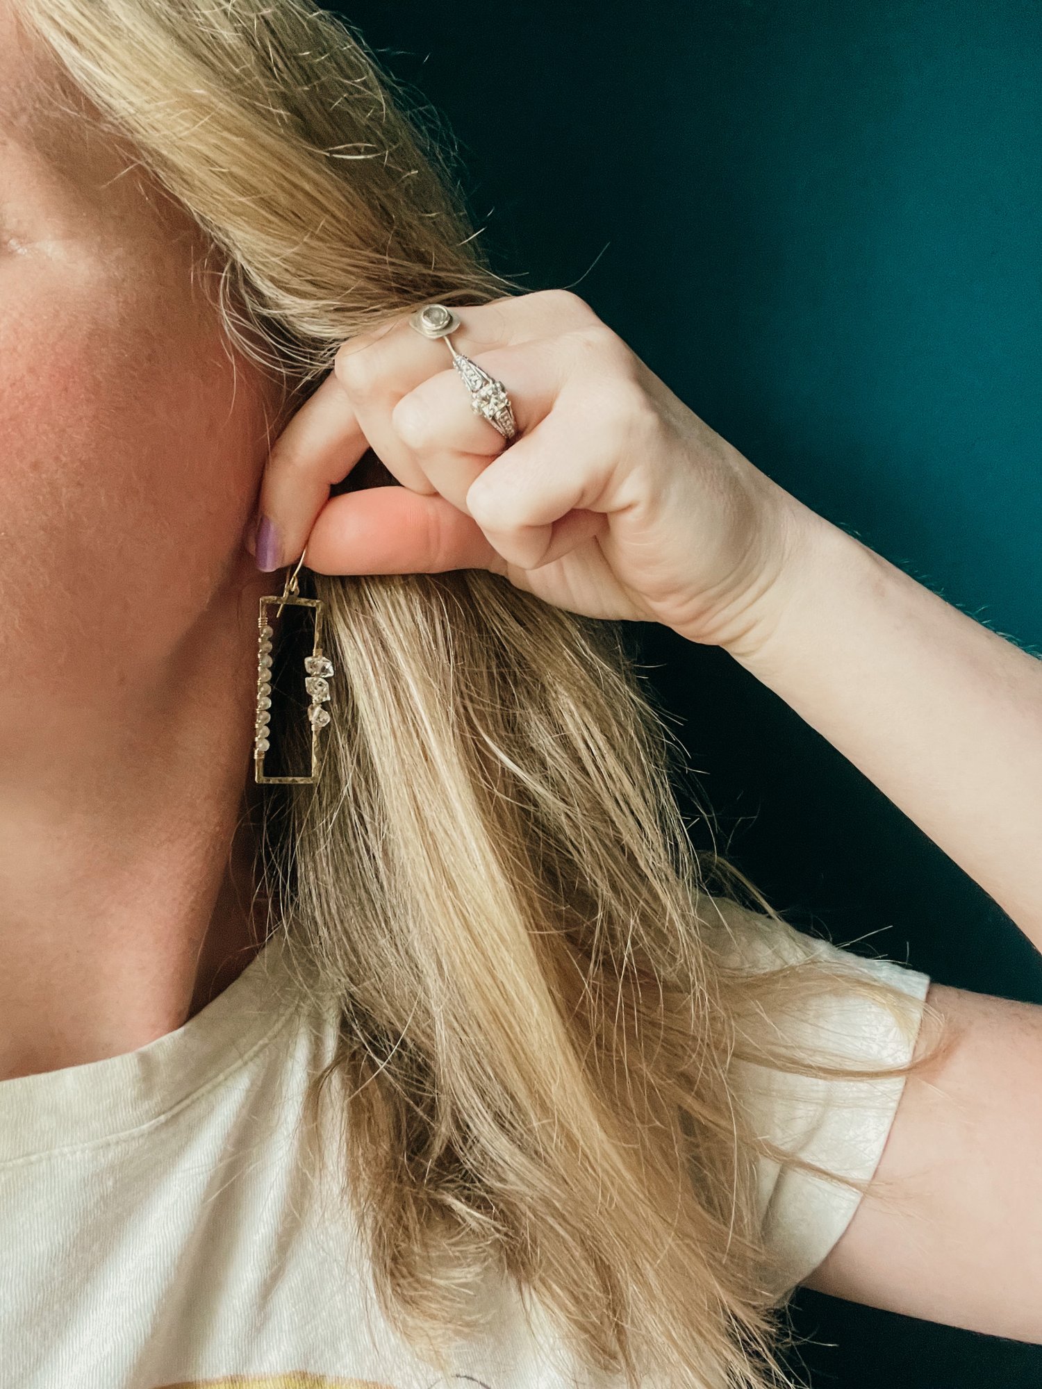
[[[263,945],[256,606],[229,594],[204,621],[161,672],[124,668],[4,736],[0,1079],[164,1036]]]

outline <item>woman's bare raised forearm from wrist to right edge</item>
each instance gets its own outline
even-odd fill
[[[1042,661],[802,510],[784,600],[727,650],[1042,950]]]

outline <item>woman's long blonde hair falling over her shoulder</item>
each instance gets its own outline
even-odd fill
[[[229,343],[286,400],[417,304],[518,292],[439,140],[307,0],[19,14],[208,233]],[[614,624],[483,571],[308,582],[345,693],[318,786],[270,789],[263,871],[301,979],[339,1013],[313,1100],[343,1086],[345,1199],[383,1313],[436,1356],[499,1271],[631,1383],[788,1382],[791,1281],[756,1171],[809,1164],[753,1132],[729,1067],[903,1074],[754,1024],[847,989],[900,1018],[904,995],[736,960],[741,938],[800,938],[722,858],[699,863],[682,750]]]

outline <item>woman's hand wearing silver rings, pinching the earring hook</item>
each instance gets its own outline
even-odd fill
[[[460,308],[456,350],[502,381],[507,446],[471,408],[446,343],[407,315],[352,338],[275,440],[265,568],[483,568],[546,603],[743,646],[813,517],[714,433],[579,297]],[[329,496],[372,449],[402,486]],[[264,549],[263,543],[263,549]]]

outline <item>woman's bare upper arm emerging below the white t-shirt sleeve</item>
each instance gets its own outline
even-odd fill
[[[909,1076],[868,1192],[804,1283],[1042,1343],[1042,1007],[938,983],[927,1001],[948,1040]]]

